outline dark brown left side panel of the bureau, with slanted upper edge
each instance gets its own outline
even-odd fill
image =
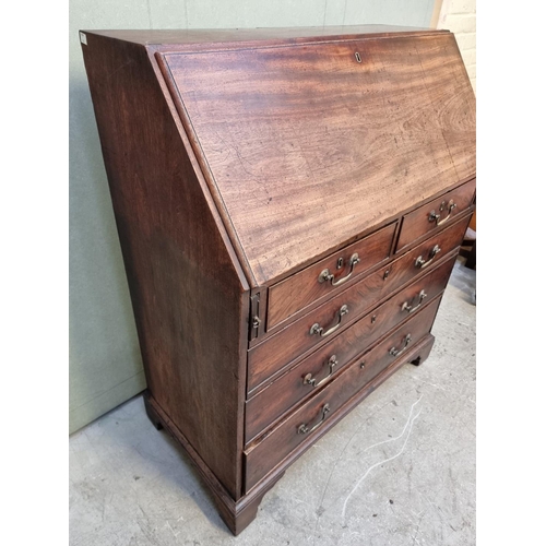
[[[82,48],[150,393],[237,499],[248,285],[145,48]]]

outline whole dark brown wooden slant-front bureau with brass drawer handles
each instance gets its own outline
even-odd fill
[[[430,330],[474,210],[453,35],[83,31],[147,379],[233,533]]]

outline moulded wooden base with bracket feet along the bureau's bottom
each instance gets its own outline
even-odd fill
[[[290,464],[299,459],[323,435],[342,420],[345,415],[354,410],[365,397],[369,396],[381,383],[387,381],[387,379],[389,379],[402,366],[405,364],[413,364],[414,366],[423,364],[428,358],[434,343],[435,336],[432,334],[427,334],[401,358],[392,363],[381,373],[376,376],[361,391],[358,392],[358,394],[348,400],[335,415],[329,418],[324,426],[317,430],[314,436],[310,437],[307,441],[294,450],[259,484],[252,487],[252,489],[250,489],[237,501],[229,496],[213,472],[188,442],[187,438],[161,408],[150,391],[145,391],[144,393],[144,405],[146,414],[154,427],[157,430],[165,429],[185,449],[191,462],[209,487],[224,523],[234,535],[238,535],[254,520],[258,507],[260,506],[263,497],[284,476],[286,468]]]

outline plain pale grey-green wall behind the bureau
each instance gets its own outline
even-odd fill
[[[80,28],[383,23],[429,26],[435,0],[71,0],[70,431],[145,388]]]

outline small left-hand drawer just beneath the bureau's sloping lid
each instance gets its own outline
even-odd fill
[[[340,292],[348,280],[388,260],[395,227],[395,223],[383,227],[272,286],[269,290],[268,331],[310,304]]]

